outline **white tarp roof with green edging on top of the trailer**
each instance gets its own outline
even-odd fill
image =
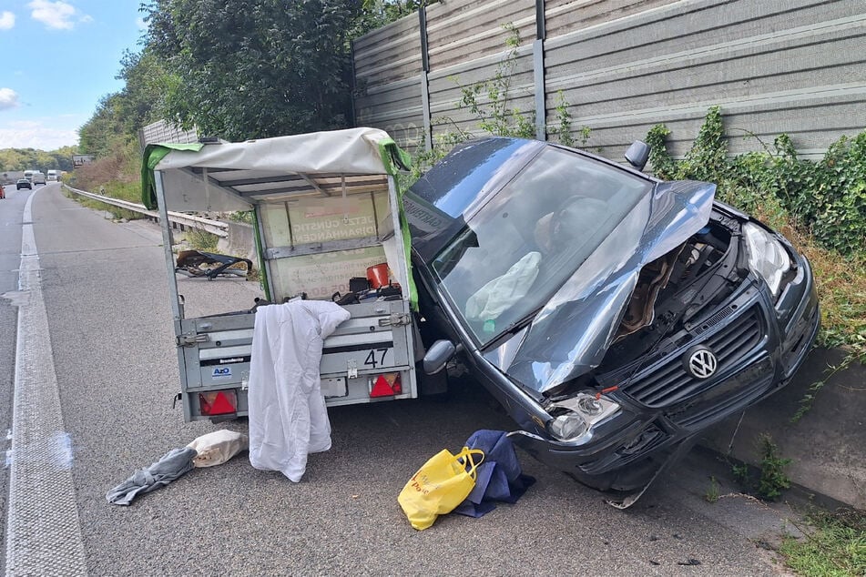
[[[231,212],[308,190],[340,194],[364,177],[393,175],[409,156],[377,128],[350,128],[239,143],[157,144],[145,149],[142,203],[157,208],[154,171],[168,210]]]

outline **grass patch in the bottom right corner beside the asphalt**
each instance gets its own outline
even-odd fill
[[[805,537],[788,536],[779,547],[792,571],[806,577],[866,575],[866,515],[820,511],[807,521]]]

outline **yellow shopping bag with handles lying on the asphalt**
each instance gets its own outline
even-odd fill
[[[482,461],[483,450],[464,447],[456,455],[443,449],[425,462],[397,497],[412,526],[426,529],[462,503],[475,486],[475,469]]]

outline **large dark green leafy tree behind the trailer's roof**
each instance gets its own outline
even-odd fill
[[[167,119],[240,140],[348,126],[357,0],[151,0]]]

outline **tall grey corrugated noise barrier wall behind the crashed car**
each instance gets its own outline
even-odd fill
[[[509,107],[537,108],[554,124],[562,91],[575,132],[592,128],[586,146],[607,157],[621,157],[658,123],[673,131],[671,151],[680,156],[713,105],[722,107],[732,153],[787,133],[804,157],[820,157],[866,127],[866,3],[538,4],[536,15],[533,0],[449,0],[360,38],[356,124],[383,128],[410,150],[457,128],[480,134],[457,104],[460,86],[495,76],[510,23],[522,46]],[[747,133],[759,139],[741,138]]]

